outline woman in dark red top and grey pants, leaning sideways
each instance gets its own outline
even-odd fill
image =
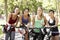
[[[15,40],[15,26],[18,23],[18,14],[19,14],[19,7],[16,6],[12,13],[8,14],[7,18],[7,24],[5,26],[5,29],[7,30],[7,33],[5,35],[5,40]]]

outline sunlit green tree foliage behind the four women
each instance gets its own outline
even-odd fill
[[[0,14],[4,13],[4,0],[0,0]],[[22,11],[24,8],[29,8],[30,12],[35,11],[37,6],[42,6],[45,10],[56,10],[56,0],[7,0],[7,10],[11,12],[14,6],[19,6]]]

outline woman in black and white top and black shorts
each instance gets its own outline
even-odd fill
[[[59,40],[59,32],[58,32],[58,19],[54,16],[54,10],[49,11],[49,19],[47,20],[47,25],[52,27],[52,40]]]

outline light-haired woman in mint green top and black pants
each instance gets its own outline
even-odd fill
[[[41,7],[37,8],[37,15],[33,16],[33,25],[35,28],[43,28],[45,25],[45,17],[43,16],[43,9]],[[40,35],[41,31],[39,29],[35,29],[34,33],[36,35],[34,36],[33,40],[36,40],[37,37]],[[42,36],[42,38],[44,39],[43,34],[41,34],[40,36]]]

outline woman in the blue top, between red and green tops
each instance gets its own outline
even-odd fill
[[[23,10],[23,15],[20,17],[20,22],[21,24],[23,25],[27,25],[26,27],[28,28],[29,27],[29,23],[30,23],[30,15],[29,15],[29,9],[28,8],[25,8]],[[26,34],[25,34],[25,40],[29,40],[28,39],[28,32],[26,31]]]

